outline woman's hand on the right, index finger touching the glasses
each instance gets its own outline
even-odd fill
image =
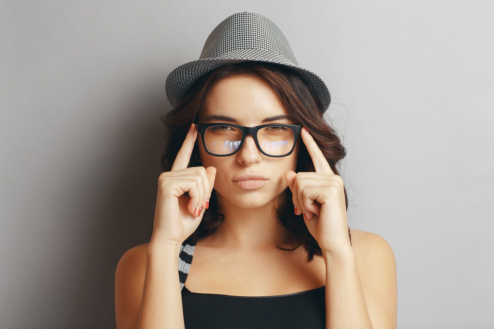
[[[305,224],[323,252],[351,247],[343,180],[333,173],[328,160],[305,127],[300,135],[316,172],[295,173],[290,170],[285,173],[293,194],[295,214],[304,213]]]

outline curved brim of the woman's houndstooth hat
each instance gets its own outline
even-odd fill
[[[268,56],[267,56],[268,55]],[[269,57],[267,59],[266,57]],[[271,59],[272,58],[272,59]],[[216,58],[202,58],[180,65],[174,69],[165,81],[166,98],[171,106],[176,107],[186,95],[192,84],[203,74],[220,66],[230,63],[247,61],[275,63],[284,65],[302,76],[302,79],[314,90],[324,105],[324,111],[328,110],[331,103],[331,95],[326,83],[316,73],[295,65],[285,57],[262,49],[240,49],[222,54]]]

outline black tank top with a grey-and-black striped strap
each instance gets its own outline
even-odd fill
[[[185,287],[195,242],[185,240],[178,258],[185,329],[326,328],[326,287],[275,296],[191,292]]]

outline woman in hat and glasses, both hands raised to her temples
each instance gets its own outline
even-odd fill
[[[117,266],[118,329],[396,328],[393,252],[347,224],[336,169],[345,148],[323,119],[329,92],[288,42],[291,63],[246,59],[252,48],[230,23],[262,19],[251,37],[278,29],[259,16],[223,21],[201,56],[216,67],[183,90],[168,84],[154,228]],[[244,57],[214,62],[211,49],[232,54],[217,47],[218,28],[242,39]],[[177,76],[191,63],[205,66]]]

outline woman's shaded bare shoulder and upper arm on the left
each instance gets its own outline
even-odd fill
[[[149,243],[127,250],[115,271],[115,315],[117,328],[132,328],[139,317],[144,290],[146,257]],[[133,327],[135,328],[135,327]]]

